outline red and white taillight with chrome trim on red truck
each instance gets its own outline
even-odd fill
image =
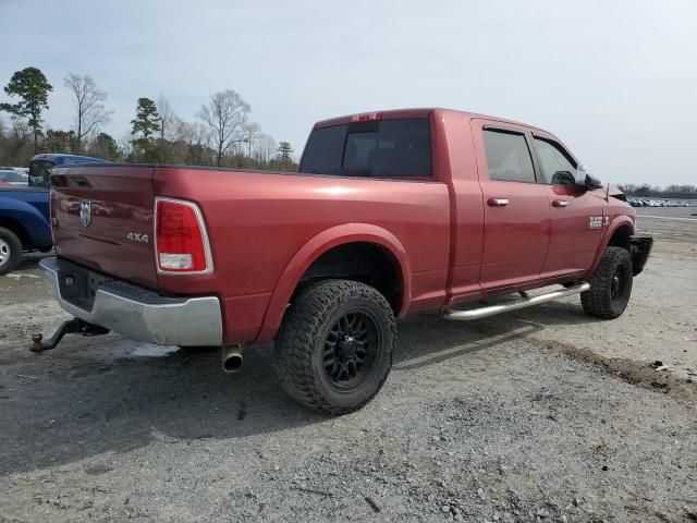
[[[155,199],[155,256],[160,273],[203,275],[212,271],[208,234],[196,204],[182,199]]]

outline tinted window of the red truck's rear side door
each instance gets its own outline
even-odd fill
[[[533,158],[524,135],[485,130],[484,146],[489,180],[535,183]]]

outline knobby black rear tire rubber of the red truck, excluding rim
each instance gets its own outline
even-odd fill
[[[326,374],[326,342],[332,326],[350,314],[369,316],[379,341],[364,381],[338,391]],[[274,366],[281,387],[303,405],[330,415],[357,411],[382,388],[392,368],[396,324],[390,304],[372,287],[325,280],[302,290],[285,313],[276,340]]]

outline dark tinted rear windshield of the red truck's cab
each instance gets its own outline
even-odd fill
[[[316,129],[299,170],[338,177],[430,177],[430,122],[409,118]]]

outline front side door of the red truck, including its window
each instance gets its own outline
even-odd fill
[[[534,134],[533,144],[552,220],[542,277],[586,272],[602,236],[604,194],[573,183],[577,162],[557,139]]]

